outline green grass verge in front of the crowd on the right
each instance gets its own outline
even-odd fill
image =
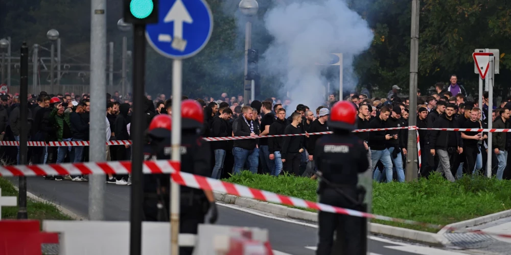
[[[244,171],[224,180],[283,195],[316,201],[317,181],[303,177]],[[511,181],[464,176],[451,183],[439,174],[410,183],[374,183],[374,214],[446,225],[511,209]],[[376,220],[374,222],[437,232],[437,229]]]

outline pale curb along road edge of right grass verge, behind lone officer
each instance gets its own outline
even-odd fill
[[[231,203],[245,208],[251,208],[262,212],[272,213],[275,215],[285,216],[293,219],[307,220],[317,222],[317,213],[308,212],[300,209],[290,208],[286,206],[277,205],[259,201],[250,198],[238,197],[215,192],[215,199],[217,201]],[[511,211],[511,210],[510,210]],[[511,212],[510,212],[511,213]],[[371,234],[383,235],[399,239],[410,240],[414,242],[425,243],[434,246],[447,246],[451,242],[443,235],[429,233],[424,231],[409,230],[408,228],[388,226],[378,223],[369,223],[369,231]]]

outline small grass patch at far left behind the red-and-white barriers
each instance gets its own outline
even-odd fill
[[[17,196],[18,191],[11,182],[0,177],[0,188],[2,196]],[[37,220],[71,220],[70,217],[62,214],[55,206],[50,203],[36,202],[27,198],[27,213],[29,219]],[[2,207],[2,219],[16,219],[18,207]]]

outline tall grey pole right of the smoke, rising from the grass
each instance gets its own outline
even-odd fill
[[[412,0],[412,20],[410,34],[410,116],[408,125],[417,124],[417,72],[419,71],[419,0]],[[424,143],[423,143],[424,144]],[[408,130],[408,153],[406,155],[406,181],[417,179],[417,131]],[[424,162],[423,162],[424,163]]]

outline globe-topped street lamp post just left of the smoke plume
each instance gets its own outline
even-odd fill
[[[245,76],[247,75],[248,71],[248,49],[252,47],[252,22],[250,22],[250,18],[252,16],[255,16],[257,14],[257,11],[259,10],[259,4],[255,0],[241,0],[240,5],[238,6],[241,13],[247,17],[247,22],[245,23]],[[245,80],[245,79],[243,79]],[[243,86],[243,90],[245,91],[243,98],[245,106],[249,105],[249,99],[251,96],[251,81],[246,81]],[[250,90],[245,89],[246,87],[250,87]],[[242,102],[240,102],[241,104]]]

